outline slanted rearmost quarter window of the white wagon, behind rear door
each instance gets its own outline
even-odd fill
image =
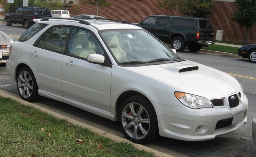
[[[32,25],[32,27],[30,27],[23,35],[21,35],[18,41],[23,42],[29,40],[32,36],[34,36],[37,32],[42,30],[45,26],[47,26],[47,24],[36,23]]]

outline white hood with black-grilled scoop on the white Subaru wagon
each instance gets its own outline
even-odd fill
[[[238,93],[241,90],[238,81],[227,73],[188,60],[134,67],[133,71],[163,82],[170,88],[175,87],[181,92],[208,99],[227,97],[228,94]]]

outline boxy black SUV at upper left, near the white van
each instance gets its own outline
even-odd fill
[[[5,17],[6,25],[22,24],[28,29],[35,22],[33,19],[41,19],[43,17],[52,17],[49,9],[39,7],[20,6],[13,13],[7,13]]]

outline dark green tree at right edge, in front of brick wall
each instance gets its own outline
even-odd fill
[[[256,24],[256,0],[235,0],[235,10],[231,20],[245,26],[245,43],[247,43],[248,29]]]

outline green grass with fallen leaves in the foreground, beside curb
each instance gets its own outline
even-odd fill
[[[0,97],[1,157],[155,157],[11,98]]]

